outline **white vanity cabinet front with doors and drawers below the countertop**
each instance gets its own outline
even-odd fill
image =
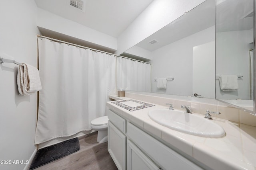
[[[118,170],[203,170],[111,110],[108,119],[108,152]]]

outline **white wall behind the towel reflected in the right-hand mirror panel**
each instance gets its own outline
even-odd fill
[[[216,75],[244,76],[238,79],[238,90],[223,92],[216,81],[217,99],[250,99],[249,49],[253,47],[253,30],[216,33]]]

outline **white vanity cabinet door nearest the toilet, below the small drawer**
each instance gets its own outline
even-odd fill
[[[126,170],[126,136],[108,121],[108,152],[118,170]]]

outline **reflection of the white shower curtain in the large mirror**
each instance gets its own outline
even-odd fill
[[[151,64],[117,57],[117,89],[151,92]]]

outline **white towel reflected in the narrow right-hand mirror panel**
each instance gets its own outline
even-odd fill
[[[237,76],[220,76],[219,80],[222,91],[236,91],[238,89]]]

